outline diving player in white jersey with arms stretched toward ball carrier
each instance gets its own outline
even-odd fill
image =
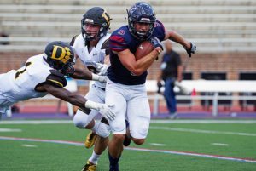
[[[113,111],[108,105],[86,100],[64,88],[67,85],[65,76],[102,81],[105,79],[90,71],[75,71],[74,62],[73,48],[67,43],[55,41],[46,46],[44,54],[26,60],[25,66],[0,74],[0,113],[5,113],[9,106],[18,101],[52,94],[84,111],[94,109],[109,120],[113,119]]]

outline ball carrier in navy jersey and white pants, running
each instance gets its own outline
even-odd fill
[[[106,86],[106,104],[114,105],[116,117],[109,121],[113,137],[108,144],[110,171],[119,170],[119,158],[123,151],[126,126],[129,122],[131,140],[142,145],[147,137],[150,108],[145,88],[147,69],[162,51],[160,41],[171,39],[183,45],[189,56],[195,53],[195,44],[190,43],[175,31],[167,31],[156,20],[154,9],[148,3],[135,3],[128,13],[128,26],[113,31],[109,37],[110,63]],[[143,41],[148,40],[154,50],[140,60],[134,54]]]

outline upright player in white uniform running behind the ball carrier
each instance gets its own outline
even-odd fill
[[[99,75],[106,75],[108,69],[108,29],[110,26],[110,16],[106,10],[101,7],[93,7],[86,11],[81,20],[81,33],[73,37],[70,43],[78,55],[78,59],[87,66],[90,71]],[[99,103],[105,102],[106,83],[95,82],[90,91],[85,95],[88,100]],[[108,146],[109,125],[108,121],[102,119],[96,122],[95,118],[99,113],[96,110],[90,112],[79,109],[73,117],[73,123],[78,128],[90,129],[91,132],[85,139],[85,147],[94,146],[89,160],[86,161],[82,170],[96,170],[96,165],[102,152]]]

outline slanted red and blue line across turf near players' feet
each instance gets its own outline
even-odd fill
[[[28,139],[28,138],[17,138],[17,137],[7,137],[7,136],[0,136],[0,140],[23,140],[23,141],[29,141],[29,142],[48,142],[48,143],[55,143],[55,144],[84,146],[84,143],[74,142],[74,141],[67,141],[67,140]],[[166,153],[166,154],[177,154],[177,155],[183,155],[183,156],[207,157],[207,158],[215,158],[215,159],[221,159],[221,160],[230,160],[230,161],[235,161],[235,162],[253,162],[253,163],[256,163],[256,159],[253,159],[253,158],[224,157],[224,156],[218,156],[218,155],[209,155],[209,154],[187,152],[187,151],[153,150],[153,149],[136,148],[136,147],[125,147],[125,150],[147,151],[147,152],[157,152],[157,153]]]

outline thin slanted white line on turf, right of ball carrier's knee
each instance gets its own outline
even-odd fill
[[[167,131],[180,131],[180,132],[189,132],[189,133],[204,133],[204,134],[235,134],[241,136],[253,136],[256,134],[253,133],[237,133],[237,132],[228,132],[228,131],[210,131],[210,130],[201,130],[201,129],[193,129],[193,128],[169,128],[169,127],[154,127],[151,126],[149,129],[156,130],[167,130]]]

